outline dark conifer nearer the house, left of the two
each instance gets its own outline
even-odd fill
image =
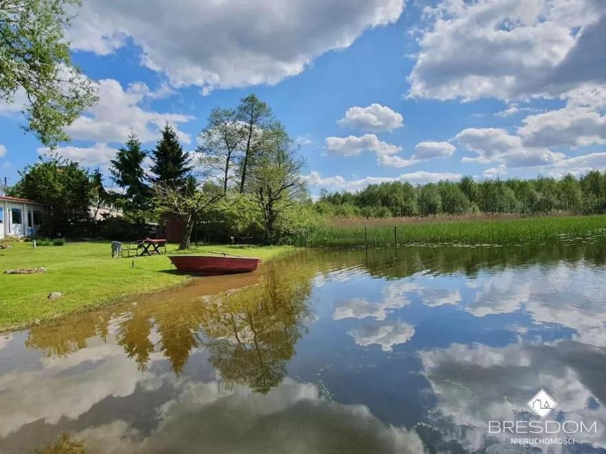
[[[110,162],[109,171],[112,173],[112,180],[124,189],[123,208],[125,212],[138,217],[138,212],[142,212],[149,207],[150,189],[147,186],[147,177],[143,170],[143,160],[145,159],[144,150],[141,149],[141,142],[136,134],[131,134],[116,153],[116,158]]]

